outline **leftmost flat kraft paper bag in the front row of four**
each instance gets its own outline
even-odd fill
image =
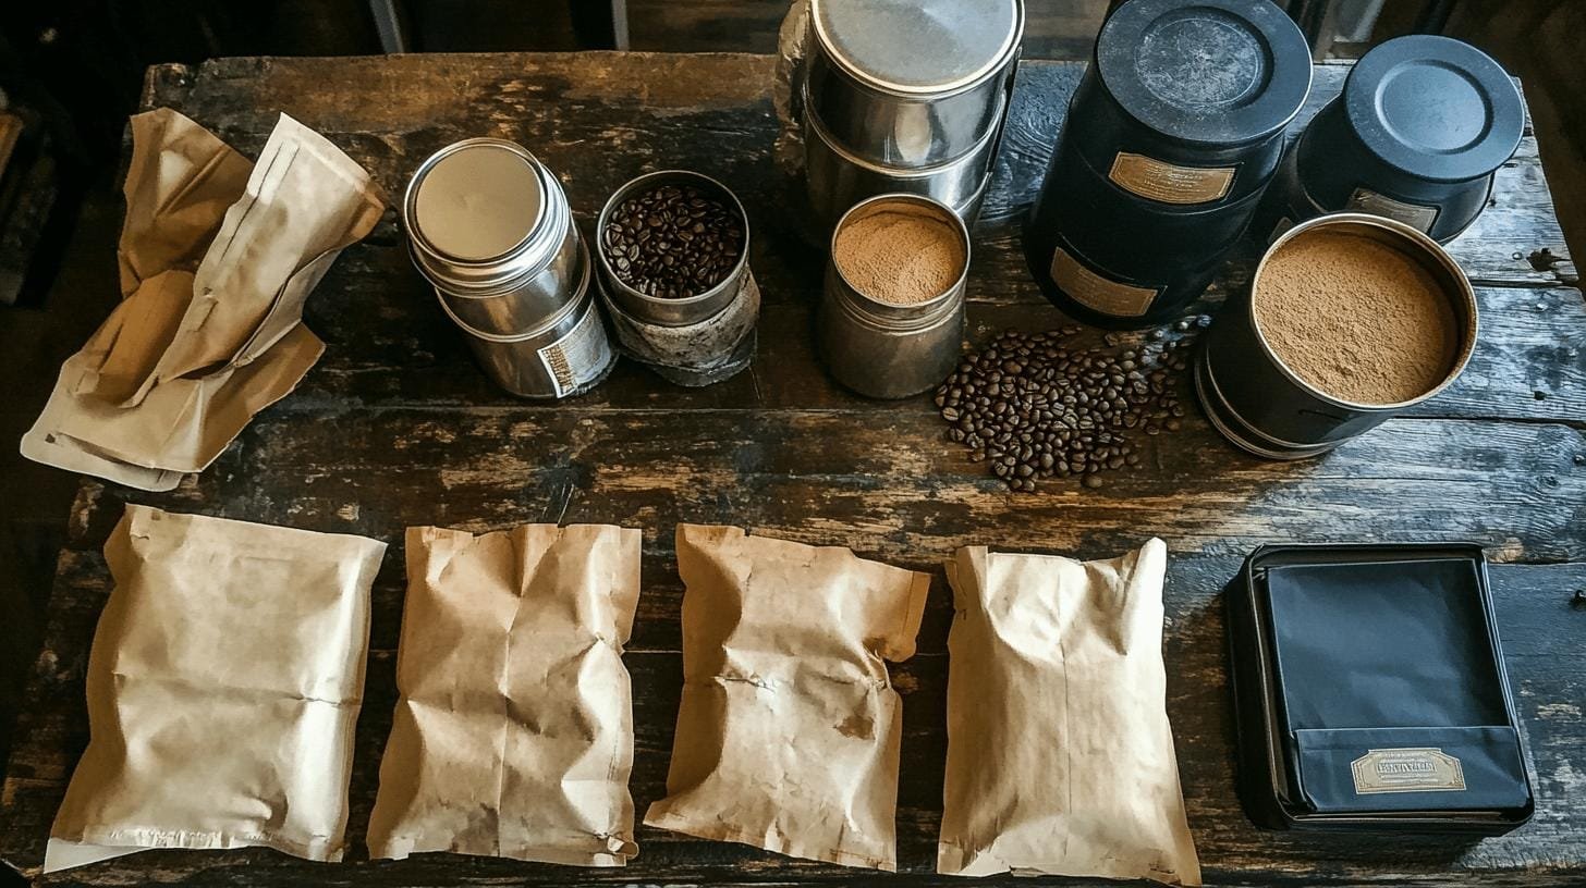
[[[147,848],[341,859],[385,544],[128,506],[87,666],[89,745],[44,872]]]

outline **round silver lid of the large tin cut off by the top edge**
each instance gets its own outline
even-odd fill
[[[1021,0],[810,0],[815,38],[860,82],[899,94],[963,89],[1002,67]]]

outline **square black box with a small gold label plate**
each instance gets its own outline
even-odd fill
[[[1224,598],[1258,826],[1497,836],[1530,818],[1478,545],[1262,545]]]

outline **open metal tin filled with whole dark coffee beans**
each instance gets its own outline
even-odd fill
[[[753,362],[760,289],[749,216],[726,186],[687,170],[617,189],[596,222],[596,268],[622,349],[679,385]]]

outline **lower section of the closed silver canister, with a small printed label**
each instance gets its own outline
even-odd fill
[[[539,327],[523,333],[487,333],[469,327],[444,295],[441,308],[463,330],[479,366],[496,385],[520,398],[582,395],[617,363],[590,289],[590,260],[579,244],[579,279],[568,301]]]

